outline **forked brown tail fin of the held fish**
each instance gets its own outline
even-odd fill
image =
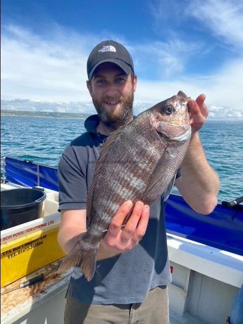
[[[82,245],[85,243],[82,239],[78,241],[73,250],[64,258],[58,268],[58,272],[61,273],[71,267],[80,267],[88,281],[90,281],[95,273],[96,268],[96,255],[98,246],[89,250],[82,249]]]

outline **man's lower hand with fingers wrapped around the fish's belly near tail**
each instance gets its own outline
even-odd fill
[[[97,260],[132,250],[145,234],[149,219],[149,206],[144,205],[142,201],[136,202],[127,224],[121,228],[132,206],[132,201],[127,200],[118,209],[107,233],[100,241]]]

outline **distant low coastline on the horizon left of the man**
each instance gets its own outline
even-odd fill
[[[20,111],[1,109],[1,117],[33,117],[33,118],[59,118],[59,119],[86,119],[87,113],[49,112],[49,111]]]

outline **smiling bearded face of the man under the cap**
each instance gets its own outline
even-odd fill
[[[87,86],[100,120],[107,127],[117,129],[131,119],[136,85],[136,75],[132,80],[113,63],[97,67]]]

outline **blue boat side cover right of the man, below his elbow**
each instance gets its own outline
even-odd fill
[[[209,215],[198,214],[181,196],[171,194],[166,205],[167,232],[243,256],[242,209],[217,205]]]

